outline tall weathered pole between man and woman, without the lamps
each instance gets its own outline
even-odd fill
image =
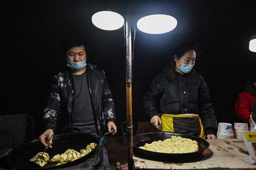
[[[126,128],[128,140],[128,168],[134,169],[133,131],[132,131],[132,33],[129,16],[126,18]]]

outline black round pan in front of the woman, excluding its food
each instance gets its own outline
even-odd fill
[[[143,150],[139,147],[145,143],[153,141],[164,140],[164,137],[170,138],[171,136],[179,136],[196,140],[199,150],[192,153],[159,153],[155,151]],[[134,136],[134,153],[136,156],[141,156],[146,159],[153,159],[159,161],[193,161],[197,160],[202,152],[209,147],[209,143],[203,138],[194,137],[186,134],[177,134],[171,132],[150,132]]]

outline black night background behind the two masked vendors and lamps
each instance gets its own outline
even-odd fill
[[[61,42],[72,32],[87,36],[88,62],[104,69],[116,104],[117,127],[126,121],[124,27],[96,28],[91,17],[111,7],[127,14],[127,1],[9,1],[2,6],[1,114],[30,114],[35,137],[43,132],[43,108],[51,75],[65,64]],[[255,2],[238,1],[130,1],[131,25],[150,12],[169,13],[177,27],[162,35],[136,28],[133,72],[133,117],[149,121],[143,94],[166,67],[180,41],[202,46],[195,68],[205,78],[218,122],[235,122],[234,103],[244,83],[256,72],[256,53],[248,49],[256,33]],[[133,31],[134,35],[134,31]],[[199,60],[198,60],[199,61]],[[134,129],[134,130],[135,130]]]

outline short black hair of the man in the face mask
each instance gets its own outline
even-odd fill
[[[87,40],[84,36],[70,36],[64,41],[63,49],[66,53],[70,48],[84,46],[87,51]]]

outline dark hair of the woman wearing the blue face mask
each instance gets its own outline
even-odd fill
[[[181,59],[184,54],[186,54],[188,51],[194,50],[195,53],[197,53],[197,57],[199,56],[200,51],[200,45],[198,43],[179,43],[175,49],[173,50],[173,57],[171,58],[171,61],[169,62],[168,66],[163,70],[164,75],[168,81],[174,80],[176,77],[176,62],[174,61],[174,56],[176,56],[178,59]],[[193,70],[191,72],[193,74]]]

